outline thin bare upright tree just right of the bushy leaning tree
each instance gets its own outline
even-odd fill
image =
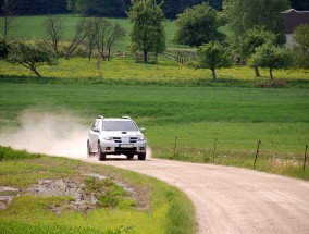
[[[59,54],[58,46],[64,29],[63,22],[62,17],[54,15],[49,15],[44,22],[48,35],[47,44],[52,47],[55,57]]]

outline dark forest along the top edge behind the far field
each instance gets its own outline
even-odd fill
[[[2,5],[4,1],[0,0]],[[14,1],[15,10],[21,15],[27,14],[62,14],[82,13],[104,17],[126,17],[126,11],[132,7],[131,0],[9,0]],[[162,0],[157,0],[161,3]],[[162,11],[165,17],[175,19],[177,14],[193,5],[207,2],[206,0],[164,0]],[[223,0],[208,0],[209,5],[222,10]],[[292,8],[299,11],[309,11],[309,1],[291,0]]]

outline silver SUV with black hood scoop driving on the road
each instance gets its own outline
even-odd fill
[[[147,140],[143,135],[145,128],[138,128],[129,116],[103,118],[97,116],[87,139],[88,156],[98,153],[99,160],[106,160],[107,155],[126,155],[133,159],[146,159]]]

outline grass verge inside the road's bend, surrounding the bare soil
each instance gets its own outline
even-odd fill
[[[0,185],[18,188],[22,194],[39,180],[66,180],[97,173],[133,187],[148,200],[143,209],[132,202],[120,202],[81,212],[70,208],[74,200],[71,196],[24,194],[15,197],[7,209],[0,209],[1,233],[195,233],[193,204],[178,189],[158,180],[44,155],[25,159],[25,152],[7,147],[1,147],[0,151],[5,159],[0,163]],[[51,206],[63,209],[55,213]]]

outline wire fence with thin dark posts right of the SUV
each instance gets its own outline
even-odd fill
[[[262,140],[194,139],[175,136],[150,139],[152,153],[158,158],[191,162],[211,162],[245,168],[307,167],[308,145],[275,144]],[[201,146],[202,145],[202,146]]]

